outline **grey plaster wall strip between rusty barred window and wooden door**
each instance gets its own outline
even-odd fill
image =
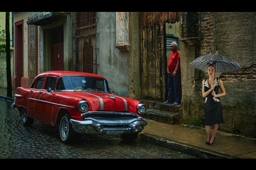
[[[116,37],[116,13],[97,12],[97,69],[98,74],[105,76],[109,82],[109,88],[115,95],[127,97],[128,52],[121,52],[115,46]]]

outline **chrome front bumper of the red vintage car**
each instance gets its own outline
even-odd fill
[[[111,112],[112,114],[124,114]],[[86,113],[88,114],[88,113]],[[133,113],[125,113],[133,114]],[[84,115],[85,116],[85,115]],[[140,133],[143,131],[147,122],[142,117],[85,117],[84,120],[70,120],[73,129],[82,134],[122,134],[122,133]]]

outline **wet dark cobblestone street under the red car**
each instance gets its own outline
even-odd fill
[[[135,140],[122,142],[119,136],[82,135],[72,145],[61,142],[59,129],[34,121],[23,126],[11,102],[0,100],[0,158],[196,158],[168,148]]]

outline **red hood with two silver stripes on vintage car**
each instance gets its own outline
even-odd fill
[[[85,99],[92,106],[92,111],[132,112],[133,104],[125,97],[104,92],[63,92],[66,95]]]

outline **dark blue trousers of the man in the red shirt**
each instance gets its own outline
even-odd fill
[[[180,73],[177,73],[174,77],[172,77],[172,74],[168,74],[168,97],[167,101],[177,102],[180,104],[181,99],[181,77]]]

